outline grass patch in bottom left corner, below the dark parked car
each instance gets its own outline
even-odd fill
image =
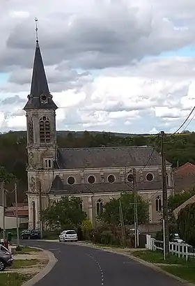
[[[0,273],[0,286],[21,286],[33,276],[34,274]]]

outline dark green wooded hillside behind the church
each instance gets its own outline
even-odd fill
[[[116,133],[58,132],[59,148],[95,146],[155,146],[157,135],[120,135]],[[165,140],[166,159],[176,167],[187,161],[195,164],[195,133],[178,134]],[[157,151],[160,141],[158,140]],[[26,132],[9,132],[0,135],[0,165],[19,179],[19,198],[26,192]],[[12,200],[12,198],[10,198]]]

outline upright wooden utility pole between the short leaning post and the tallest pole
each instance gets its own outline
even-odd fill
[[[138,213],[137,213],[137,181],[136,170],[133,168],[133,191],[134,191],[134,247],[139,247],[139,229],[138,229]]]

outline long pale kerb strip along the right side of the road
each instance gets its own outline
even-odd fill
[[[86,246],[86,247],[89,247],[89,248],[90,248],[90,247],[91,247],[91,248],[96,248],[96,249],[100,249],[100,250],[103,250],[103,251],[107,251],[107,252],[109,252],[109,253],[115,253],[115,254],[118,254],[118,255],[123,255],[123,256],[125,256],[125,257],[129,257],[130,259],[132,259],[132,260],[134,260],[134,261],[136,261],[136,262],[139,262],[139,263],[141,263],[141,264],[143,264],[143,265],[145,265],[145,266],[148,266],[148,267],[150,267],[151,269],[153,269],[153,270],[155,270],[155,271],[157,271],[157,272],[164,273],[166,276],[169,276],[169,277],[171,277],[171,278],[174,278],[174,279],[178,280],[180,283],[182,283],[182,285],[194,286],[193,283],[189,283],[189,282],[187,282],[186,280],[184,280],[184,279],[182,279],[182,278],[180,278],[180,277],[178,277],[178,276],[175,276],[175,275],[173,275],[173,274],[171,274],[171,273],[169,273],[169,272],[167,272],[167,271],[161,269],[160,267],[154,265],[153,263],[146,262],[145,260],[140,259],[140,258],[137,258],[137,257],[134,257],[133,255],[129,255],[129,254],[126,254],[126,253],[117,253],[116,251],[111,250],[111,249],[103,248],[103,247],[101,247],[101,246],[95,246],[95,245],[93,245],[93,244],[90,245],[89,243],[83,243],[83,242],[77,243],[77,246]]]

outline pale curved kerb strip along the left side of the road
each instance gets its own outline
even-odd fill
[[[38,248],[38,247],[30,247],[30,246],[28,246],[28,247],[42,250],[42,252],[45,253],[45,255],[47,255],[47,257],[49,258],[49,262],[47,263],[47,266],[45,266],[44,269],[42,269],[40,272],[38,272],[36,274],[36,276],[33,276],[33,278],[31,278],[30,280],[24,282],[22,284],[22,286],[33,286],[36,283],[38,283],[38,281],[40,281],[43,277],[45,277],[52,270],[52,268],[54,267],[54,265],[57,262],[56,257],[54,256],[54,254],[51,251],[44,250],[44,249]]]

